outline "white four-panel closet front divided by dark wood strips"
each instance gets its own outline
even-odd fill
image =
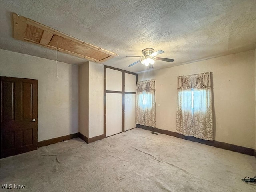
[[[106,70],[106,137],[136,127],[136,74],[104,67]]]

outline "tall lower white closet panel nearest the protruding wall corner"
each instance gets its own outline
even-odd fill
[[[106,93],[106,137],[122,132],[122,93]]]

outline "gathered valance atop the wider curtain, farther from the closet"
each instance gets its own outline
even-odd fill
[[[177,90],[211,88],[211,72],[177,77]]]

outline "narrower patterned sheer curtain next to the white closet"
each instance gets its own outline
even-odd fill
[[[155,80],[137,82],[136,124],[156,127]]]

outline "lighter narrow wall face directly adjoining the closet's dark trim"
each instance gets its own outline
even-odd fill
[[[89,138],[104,134],[103,78],[104,66],[89,61]]]

